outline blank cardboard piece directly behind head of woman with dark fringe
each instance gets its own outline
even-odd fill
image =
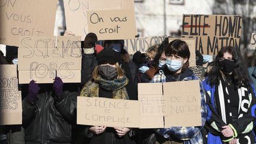
[[[169,43],[173,40],[176,40],[176,38],[169,38]],[[189,66],[196,66],[196,40],[194,38],[181,38],[180,40],[188,44],[188,49],[190,50]]]

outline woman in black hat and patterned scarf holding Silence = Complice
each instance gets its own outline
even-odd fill
[[[120,67],[120,53],[114,49],[104,49],[97,55],[98,65],[92,77],[81,90],[81,97],[104,97],[128,100],[126,85],[129,80]],[[88,126],[84,133],[86,143],[135,143],[129,136],[132,129],[127,127]]]

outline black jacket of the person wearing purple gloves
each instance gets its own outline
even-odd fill
[[[71,143],[77,92],[64,91],[58,100],[50,93],[37,95],[35,104],[23,100],[26,143]]]

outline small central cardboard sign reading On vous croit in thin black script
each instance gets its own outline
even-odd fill
[[[98,40],[134,39],[136,35],[133,9],[87,11],[89,33]]]

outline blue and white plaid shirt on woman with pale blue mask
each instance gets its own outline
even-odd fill
[[[164,75],[163,71],[159,71],[159,74],[156,74],[153,79],[151,80],[152,83],[154,82],[166,82],[166,76]],[[190,80],[197,80],[198,78],[195,75],[190,75],[182,81],[190,81]],[[158,132],[161,136],[164,136],[167,139],[175,139],[183,140],[184,144],[188,143],[203,143],[203,137],[201,136],[200,130],[203,128],[206,117],[207,117],[207,107],[205,101],[205,92],[203,89],[203,85],[200,82],[200,93],[201,93],[201,123],[202,126],[198,127],[170,127],[168,129],[158,129]]]

